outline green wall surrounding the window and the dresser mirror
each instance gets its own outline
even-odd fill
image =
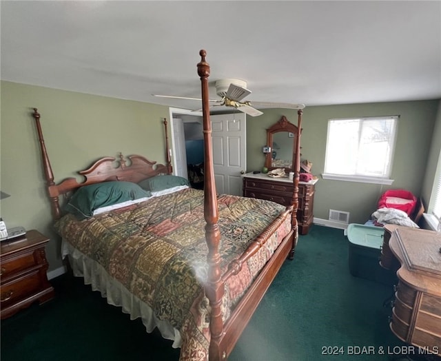
[[[423,196],[428,201],[431,189],[422,194],[422,187],[426,172],[428,172],[427,183],[432,184],[435,172],[433,163],[438,159],[440,152],[441,116],[438,116],[438,137],[434,133],[438,108],[440,108],[439,100],[306,107],[302,116],[302,158],[313,163],[312,172],[319,178],[314,199],[314,217],[327,220],[329,209],[338,209],[350,212],[350,223],[365,223],[371,213],[376,210],[378,198],[387,189],[408,189],[416,196]],[[247,118],[247,167],[249,171],[263,167],[265,157],[262,147],[266,143],[266,129],[276,123],[282,115],[287,116],[291,123],[297,124],[296,110],[265,110],[262,116]],[[391,174],[391,178],[394,179],[392,185],[342,182],[321,178],[325,167],[328,119],[386,115],[400,116]],[[433,149],[431,149],[431,143],[433,143]],[[435,149],[438,149],[438,153]],[[431,163],[427,163],[429,152],[433,153]],[[429,165],[428,168],[427,165]],[[424,204],[427,206],[427,202]]]

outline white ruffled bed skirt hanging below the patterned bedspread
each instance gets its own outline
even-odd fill
[[[132,295],[120,282],[109,276],[107,271],[98,262],[88,258],[70,243],[63,240],[63,259],[69,256],[70,266],[74,276],[83,277],[85,285],[92,285],[93,291],[100,291],[101,296],[107,299],[109,305],[122,307],[124,313],[130,314],[130,319],[141,318],[148,333],[155,327],[163,338],[173,340],[172,347],[181,347],[181,333],[164,320],[159,320],[147,304]]]

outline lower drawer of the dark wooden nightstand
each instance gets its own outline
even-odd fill
[[[4,307],[21,300],[41,288],[41,277],[39,270],[31,272],[30,274],[24,274],[23,276],[16,278],[10,282],[6,282],[1,285],[0,291],[0,305]]]

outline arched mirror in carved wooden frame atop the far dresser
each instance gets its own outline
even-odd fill
[[[271,152],[266,154],[265,167],[269,170],[284,168],[286,173],[294,172],[297,132],[298,127],[290,123],[286,116],[267,129],[267,146]]]

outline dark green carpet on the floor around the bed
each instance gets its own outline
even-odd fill
[[[351,276],[347,242],[341,229],[318,225],[300,236],[296,258],[285,261],[229,360],[389,360],[379,348],[402,344],[382,306],[391,287]],[[178,360],[171,342],[145,333],[82,279],[51,282],[57,298],[1,321],[2,361]],[[344,353],[323,355],[325,347]],[[349,347],[375,355],[348,355]]]

